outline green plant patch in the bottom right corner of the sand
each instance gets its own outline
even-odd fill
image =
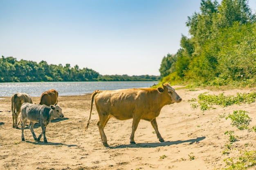
[[[224,159],[227,170],[246,170],[256,165],[256,150],[245,151],[240,157]]]

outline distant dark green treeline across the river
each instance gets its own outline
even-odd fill
[[[159,81],[160,76],[100,75],[98,72],[78,65],[48,65],[46,61],[20,60],[14,57],[0,58],[0,82],[40,81]]]

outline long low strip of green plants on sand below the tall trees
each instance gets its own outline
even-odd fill
[[[249,94],[246,93],[237,93],[236,96],[224,96],[223,93],[217,95],[206,95],[206,93],[202,93],[198,96],[198,103],[200,104],[201,110],[210,109],[209,105],[220,105],[222,107],[227,107],[230,105],[239,105],[241,103],[250,104],[255,102],[256,92],[252,92]]]

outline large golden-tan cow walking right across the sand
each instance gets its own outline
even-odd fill
[[[137,129],[139,121],[146,120],[151,122],[157,138],[160,142],[164,139],[160,135],[157,127],[156,117],[165,105],[179,103],[182,98],[175,92],[169,83],[165,83],[162,87],[139,88],[139,89],[119,89],[119,90],[96,90],[91,96],[91,110],[84,131],[88,129],[93,100],[95,100],[96,109],[99,115],[97,126],[101,135],[101,142],[108,147],[107,137],[104,133],[104,127],[108,120],[113,117],[118,120],[132,119],[132,133],[130,136],[130,144],[135,144],[134,133]]]

